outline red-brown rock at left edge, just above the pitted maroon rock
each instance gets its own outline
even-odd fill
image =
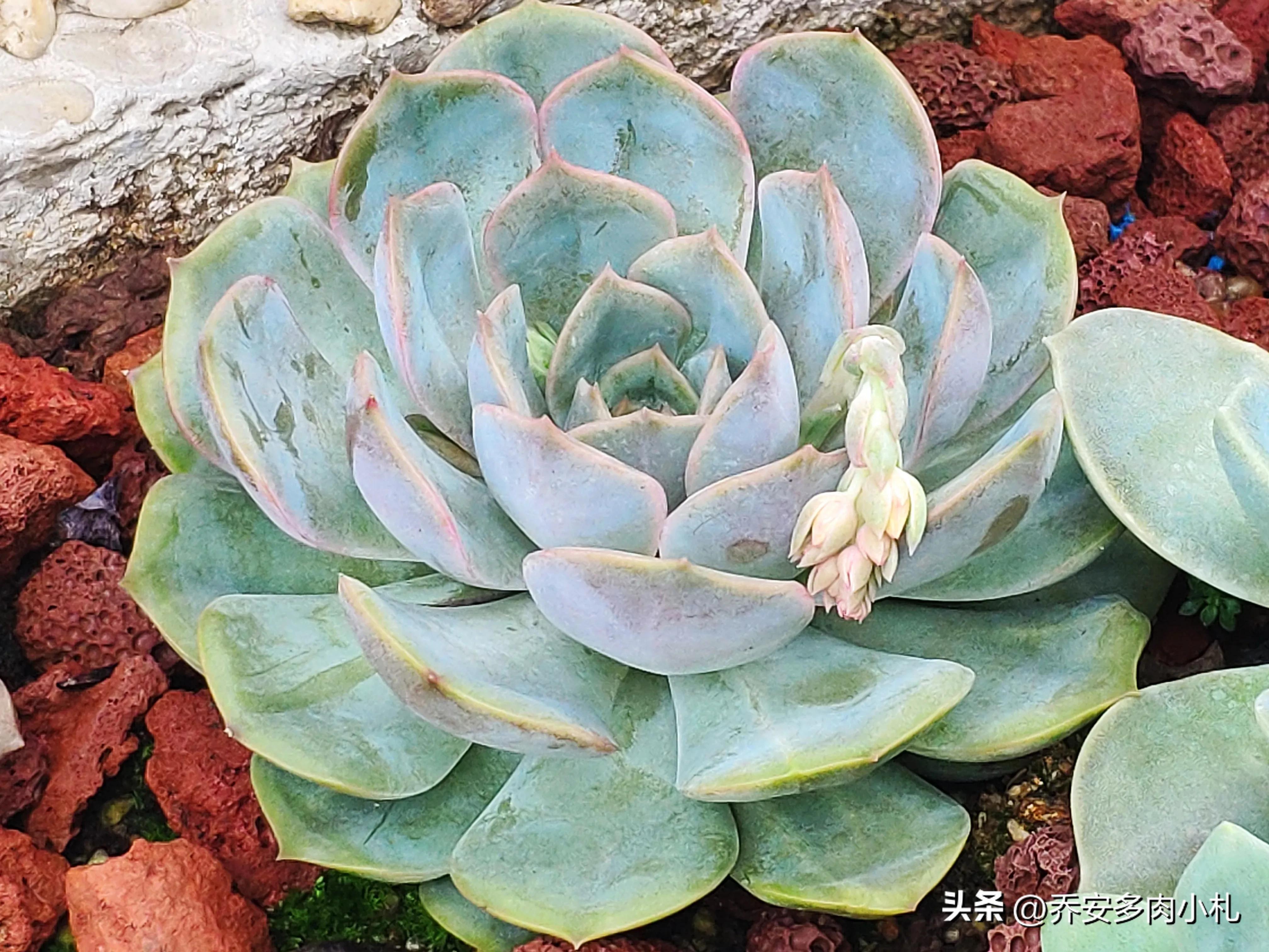
[[[93,477],[57,447],[0,434],[0,576],[48,542],[57,513],[94,487]]]

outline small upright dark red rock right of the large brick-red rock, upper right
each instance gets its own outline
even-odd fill
[[[1189,113],[1167,121],[1148,189],[1155,215],[1213,221],[1233,197],[1233,179],[1221,146]]]

